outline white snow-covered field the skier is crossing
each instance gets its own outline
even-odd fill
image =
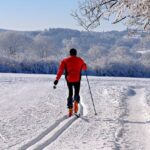
[[[0,150],[150,150],[150,79],[82,79],[82,116],[66,116],[55,76],[0,74]]]

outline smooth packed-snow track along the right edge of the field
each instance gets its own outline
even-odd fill
[[[126,101],[127,114],[125,119],[122,120],[124,126],[122,138],[126,143],[126,148],[137,149],[138,147],[139,150],[150,149],[150,108],[146,102],[145,95],[145,88],[129,89]]]

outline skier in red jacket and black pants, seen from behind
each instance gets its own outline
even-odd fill
[[[70,56],[63,59],[60,63],[56,80],[54,81],[54,87],[58,84],[61,75],[65,71],[65,78],[69,90],[69,95],[67,98],[68,106],[68,116],[71,117],[74,113],[78,112],[78,104],[80,102],[80,81],[81,81],[81,71],[87,70],[87,66],[82,58],[77,57],[77,50],[70,49]],[[73,97],[74,88],[74,97]]]

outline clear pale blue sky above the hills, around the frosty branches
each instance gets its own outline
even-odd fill
[[[79,0],[0,0],[0,29],[34,31],[49,28],[84,30],[71,16]],[[96,31],[124,30],[122,24],[102,22]]]

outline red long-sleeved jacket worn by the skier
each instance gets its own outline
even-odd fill
[[[77,56],[70,56],[61,61],[56,80],[59,80],[65,70],[66,80],[68,82],[79,82],[81,79],[81,71],[87,70],[84,61]]]

